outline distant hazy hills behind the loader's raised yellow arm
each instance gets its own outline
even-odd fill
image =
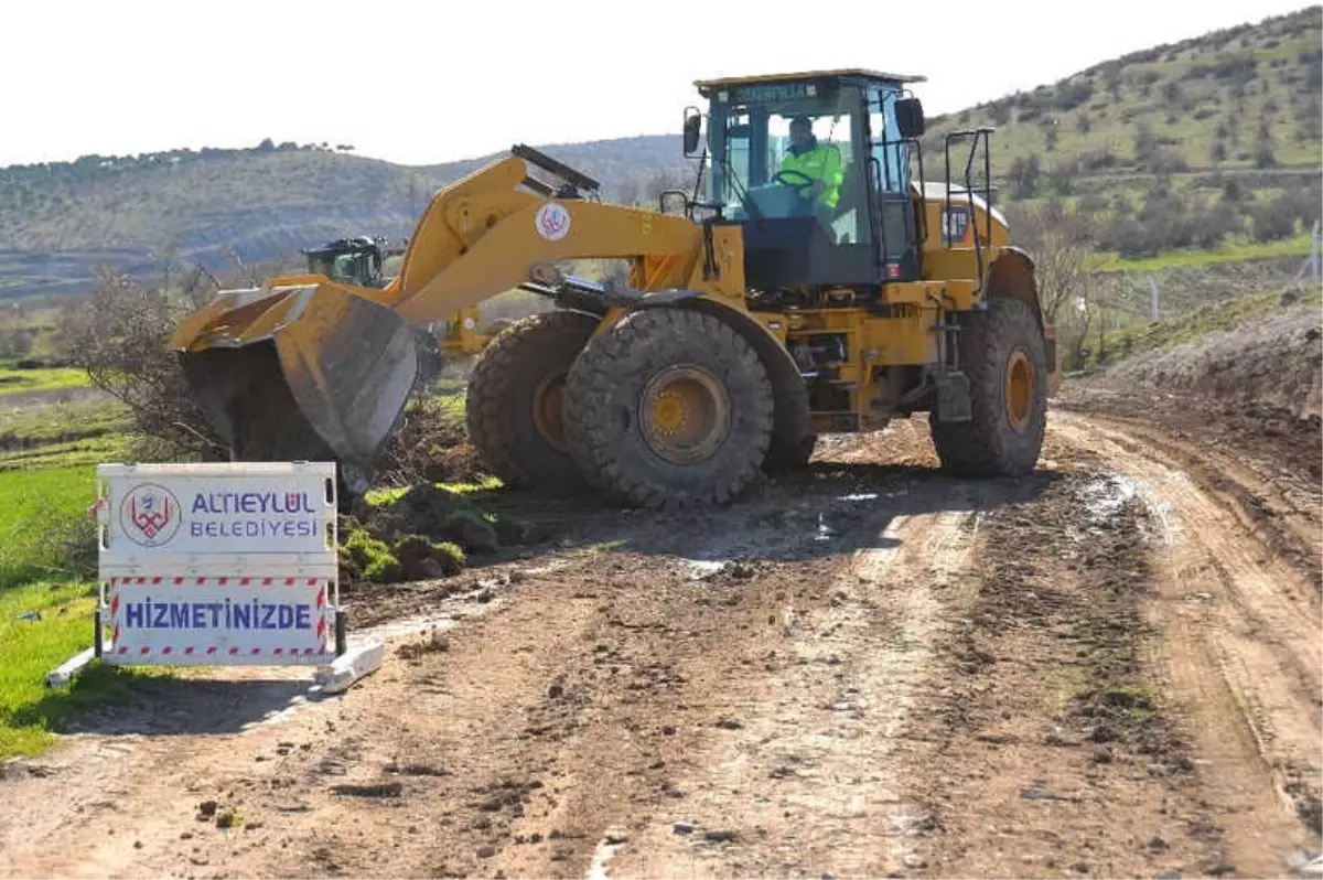
[[[542,150],[601,180],[607,198],[632,200],[685,167],[679,135]],[[85,287],[101,261],[216,270],[233,266],[230,249],[245,263],[298,261],[345,234],[404,237],[438,187],[491,159],[406,167],[267,144],[0,168],[0,298]]]

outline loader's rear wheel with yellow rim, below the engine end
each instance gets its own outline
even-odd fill
[[[1023,476],[1043,450],[1048,361],[1039,322],[1017,299],[992,299],[960,320],[960,367],[970,380],[972,417],[943,422],[929,414],[942,468],[955,476]]]

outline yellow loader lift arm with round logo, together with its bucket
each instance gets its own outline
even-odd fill
[[[365,490],[418,380],[418,328],[445,320],[443,351],[476,351],[462,316],[520,286],[556,291],[560,261],[630,259],[640,296],[705,290],[742,303],[738,230],[591,201],[597,181],[528,147],[512,152],[434,195],[385,287],[273,278],[222,291],[180,323],[171,347],[233,458],[333,457],[348,488]]]

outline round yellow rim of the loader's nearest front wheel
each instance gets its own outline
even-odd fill
[[[643,439],[654,453],[692,464],[708,459],[730,431],[730,398],[701,367],[669,367],[654,376],[639,400]]]

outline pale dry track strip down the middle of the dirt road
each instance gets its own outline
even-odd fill
[[[934,507],[871,517],[876,540],[822,585],[830,601],[782,619],[769,674],[713,684],[738,726],[688,756],[679,785],[693,795],[654,814],[606,876],[851,877],[905,865],[896,746],[980,516],[959,487]]]

